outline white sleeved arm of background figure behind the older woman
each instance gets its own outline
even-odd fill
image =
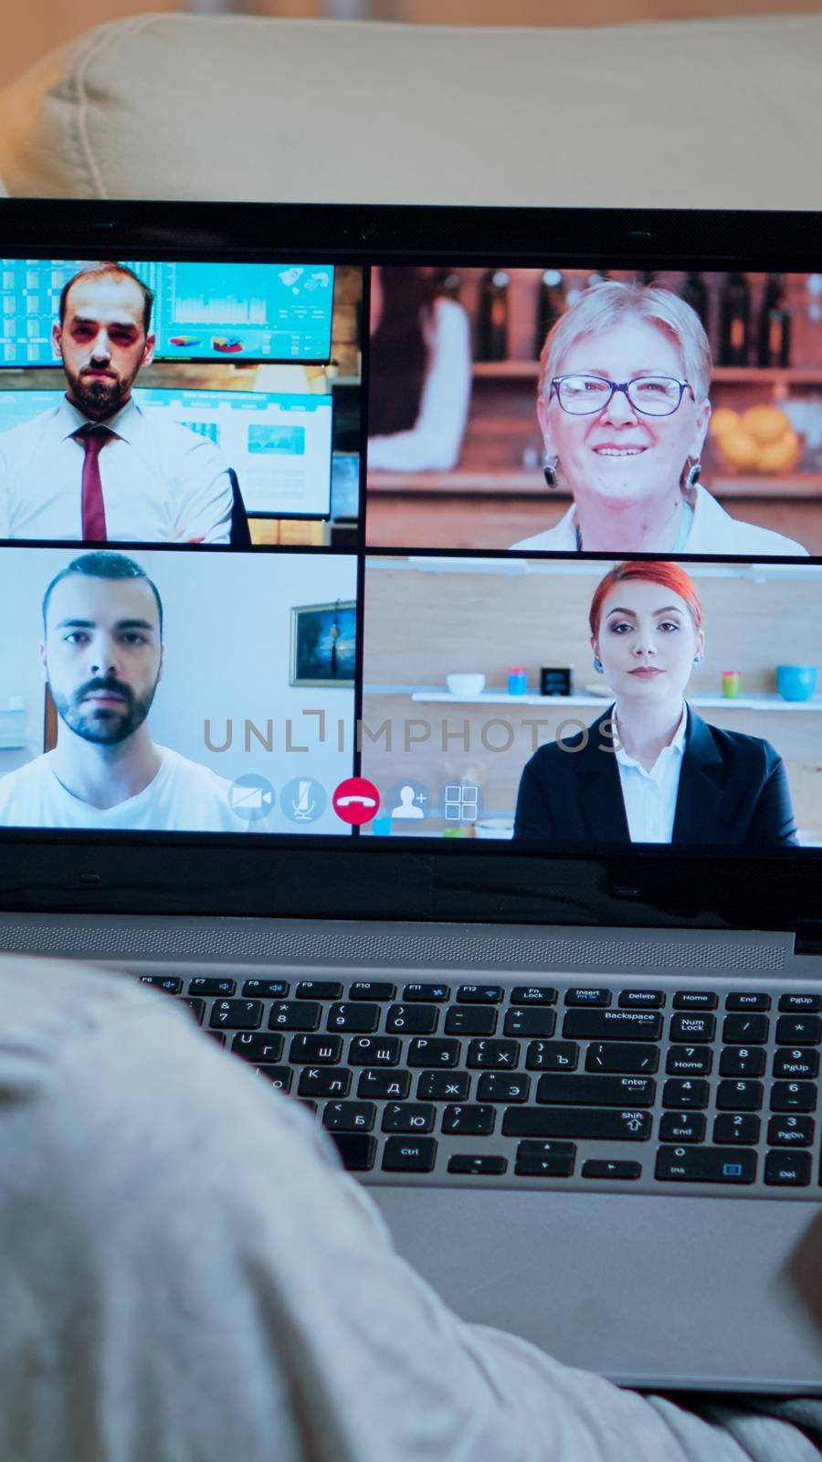
[[[439,300],[417,421],[369,439],[369,469],[449,472],[459,461],[471,404],[471,327],[455,300]]]

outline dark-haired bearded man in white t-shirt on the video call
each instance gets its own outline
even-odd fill
[[[230,782],[151,738],[162,654],[159,594],[133,558],[101,550],[54,576],[39,658],[57,746],[0,779],[0,827],[247,829]]]

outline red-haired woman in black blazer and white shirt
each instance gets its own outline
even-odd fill
[[[587,732],[541,746],[519,782],[513,836],[541,842],[797,842],[785,768],[759,737],[711,727],[685,700],[705,633],[674,563],[623,563],[589,613],[594,667],[614,703]]]

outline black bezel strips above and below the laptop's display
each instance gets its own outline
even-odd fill
[[[26,257],[282,259],[813,272],[822,213],[0,202]],[[79,253],[78,253],[79,250]],[[367,382],[364,380],[364,387]],[[360,538],[360,550],[364,548]],[[725,557],[725,556],[723,556]],[[386,851],[389,855],[386,857]],[[0,832],[0,908],[768,928],[822,942],[822,849],[547,855],[439,839]],[[822,947],[822,944],[821,944]]]

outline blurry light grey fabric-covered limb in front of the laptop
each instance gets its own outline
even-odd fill
[[[3,1458],[88,1462],[89,1437],[117,1462],[816,1455],[458,1319],[319,1123],[168,996],[3,959],[0,997]]]

